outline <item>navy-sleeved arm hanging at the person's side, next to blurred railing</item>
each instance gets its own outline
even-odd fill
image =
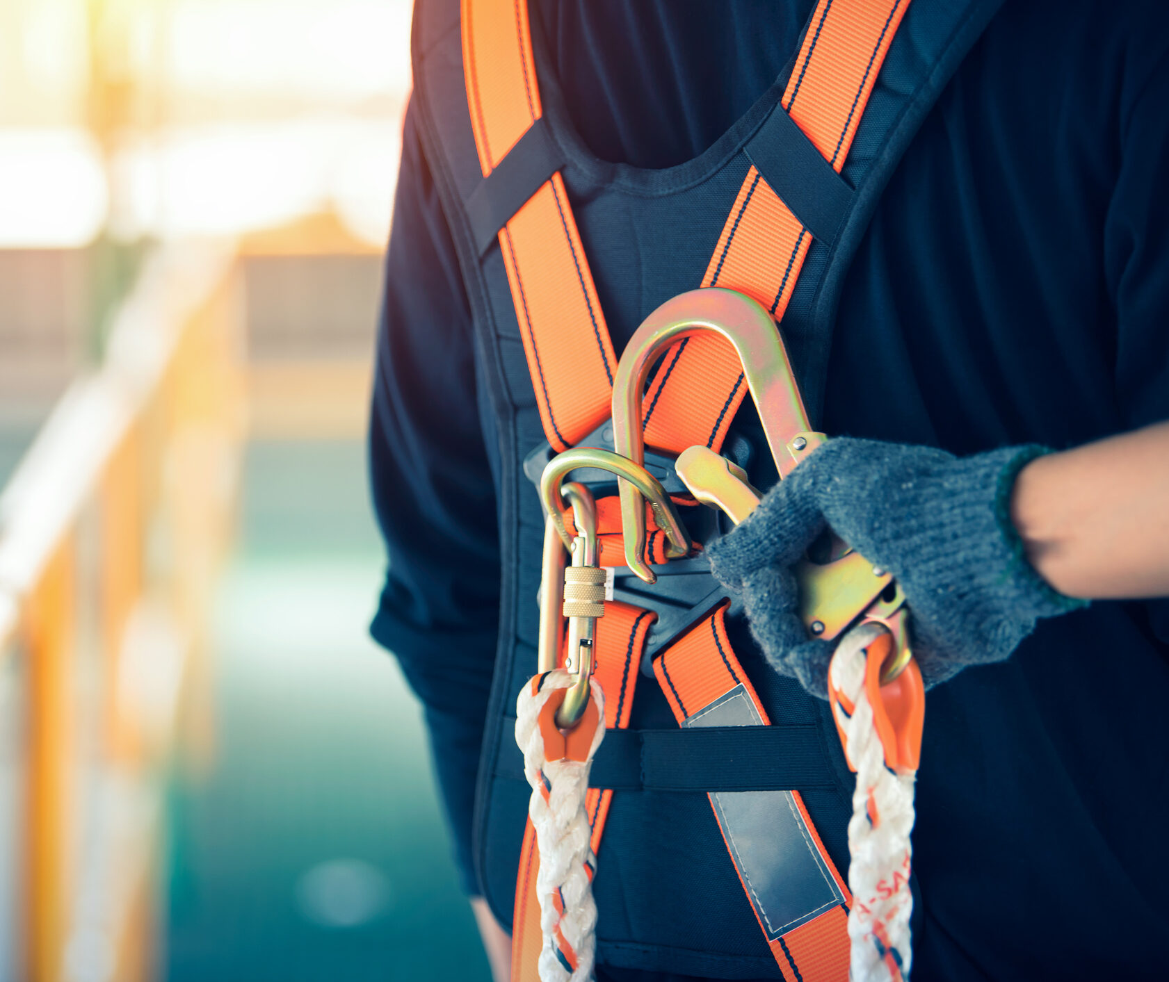
[[[371,633],[422,702],[463,889],[494,664],[496,502],[476,402],[471,315],[413,112],[378,333],[373,501],[389,558]]]

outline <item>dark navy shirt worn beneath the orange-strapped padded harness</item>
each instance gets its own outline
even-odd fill
[[[811,6],[532,2],[539,63],[583,145],[641,170],[684,165],[747,112]],[[968,453],[1066,447],[1169,418],[1167,50],[1160,2],[1005,5],[927,117],[850,269],[826,432]],[[721,220],[712,211],[715,235]],[[581,221],[581,235],[620,351],[667,274],[631,272],[625,230]],[[485,398],[408,113],[371,426],[390,556],[373,634],[426,706],[469,892],[498,619]],[[1155,720],[1167,655],[1164,605],[1098,604],[1044,624],[1008,664],[931,694],[914,849],[938,901],[915,938],[919,968],[1005,977],[1033,962],[1023,925],[1043,917],[1047,891],[1088,892],[1084,929],[1129,948],[1130,935],[1164,935],[1169,849],[1155,830],[1169,782]],[[1099,681],[1086,682],[1088,664],[1102,666]],[[971,889],[988,855],[1026,864],[991,899]],[[984,956],[981,939],[1004,926],[1017,942]]]

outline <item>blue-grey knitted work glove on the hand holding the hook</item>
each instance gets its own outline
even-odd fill
[[[711,571],[742,594],[752,634],[780,673],[828,697],[835,642],[809,640],[793,565],[829,525],[893,573],[912,614],[926,687],[1002,661],[1042,617],[1084,606],[1026,562],[1010,520],[1015,478],[1044,453],[941,450],[838,437],[772,488],[741,525],[711,543]]]

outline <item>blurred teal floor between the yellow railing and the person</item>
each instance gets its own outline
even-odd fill
[[[366,625],[353,443],[256,444],[215,612],[216,758],[171,794],[170,982],[486,982],[417,705]]]

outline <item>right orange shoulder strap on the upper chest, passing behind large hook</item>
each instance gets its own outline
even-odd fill
[[[909,0],[819,0],[816,6],[781,103],[837,172],[908,6]],[[810,242],[752,166],[703,286],[746,293],[780,320]],[[694,444],[719,450],[746,392],[726,341],[713,334],[685,339],[666,351],[645,396],[645,443],[673,453]]]

